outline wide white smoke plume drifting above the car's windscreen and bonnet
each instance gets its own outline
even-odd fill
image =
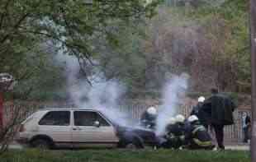
[[[88,81],[79,77],[80,67],[77,58],[74,56],[59,53],[58,62],[66,65],[66,75],[68,77],[68,89],[71,100],[78,108],[100,110],[112,122],[127,126],[128,117],[118,109],[118,100],[126,92],[117,80],[106,81],[105,77],[97,72],[97,76],[89,76]]]

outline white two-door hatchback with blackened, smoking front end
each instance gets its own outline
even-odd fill
[[[120,127],[92,109],[41,109],[21,123],[17,141],[40,148],[156,145],[154,132]]]

